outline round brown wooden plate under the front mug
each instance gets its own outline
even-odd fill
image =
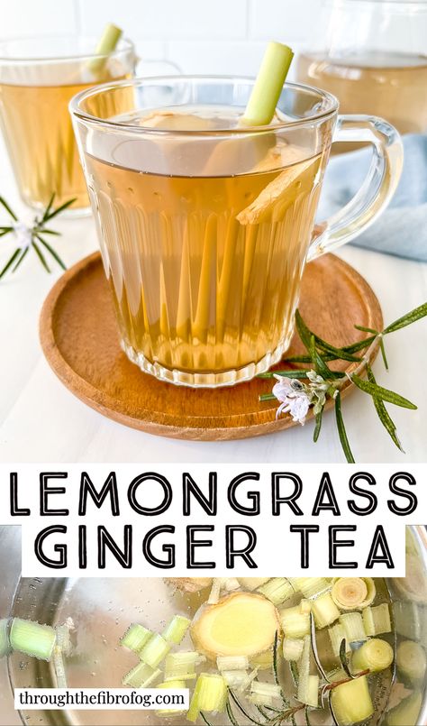
[[[383,324],[366,280],[332,254],[306,266],[300,309],[311,329],[332,345],[363,337],[355,323],[376,329]],[[294,425],[288,416],[276,420],[275,400],[259,402],[260,393],[271,391],[271,380],[194,390],[141,372],[119,345],[99,253],[74,265],[50,290],[41,310],[41,345],[60,381],[79,399],[150,434],[212,441],[255,437]],[[287,354],[299,353],[303,347],[294,340]]]

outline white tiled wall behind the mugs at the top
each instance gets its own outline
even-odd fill
[[[186,73],[257,72],[266,41],[298,49],[323,0],[0,0],[0,38],[82,32],[116,23],[142,58]]]

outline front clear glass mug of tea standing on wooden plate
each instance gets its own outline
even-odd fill
[[[286,84],[273,123],[245,127],[252,86],[151,78],[70,103],[123,350],[162,381],[214,388],[277,363],[305,262],[366,229],[400,176],[386,121]],[[332,139],[370,142],[373,159],[350,204],[314,227]]]

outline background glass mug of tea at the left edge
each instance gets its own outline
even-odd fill
[[[131,78],[135,53],[119,41],[108,56],[79,35],[0,43],[0,123],[23,201],[42,209],[70,198],[69,213],[89,211],[86,183],[68,114],[78,91]]]

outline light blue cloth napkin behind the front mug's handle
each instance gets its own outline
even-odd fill
[[[427,262],[427,134],[408,133],[404,169],[386,211],[352,242],[377,252]],[[359,149],[332,157],[326,170],[318,219],[350,201],[368,170],[372,152]]]

